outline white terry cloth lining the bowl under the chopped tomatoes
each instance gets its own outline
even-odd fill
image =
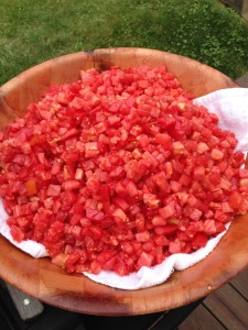
[[[219,118],[219,127],[224,130],[230,130],[236,134],[238,139],[237,150],[245,153],[248,152],[248,89],[229,88],[218,90],[195,99],[194,103],[205,106],[209,111],[215,112]],[[47,255],[42,244],[33,241],[14,242],[10,235],[9,227],[6,224],[7,218],[8,216],[3,210],[2,204],[0,204],[0,233],[3,237],[34,257]],[[211,239],[205,248],[194,253],[173,254],[160,265],[151,268],[142,267],[139,272],[128,276],[121,277],[114,272],[104,271],[98,275],[84,274],[93,280],[120,289],[133,290],[159,285],[165,282],[175,270],[185,270],[206,257],[225,233],[223,232],[218,237]]]

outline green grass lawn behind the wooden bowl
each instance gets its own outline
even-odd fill
[[[1,0],[0,85],[45,59],[136,46],[198,59],[238,78],[248,23],[216,0]]]

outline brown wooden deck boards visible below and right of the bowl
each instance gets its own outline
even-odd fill
[[[248,74],[237,82],[248,88]],[[248,268],[204,299],[177,328],[177,330],[197,329],[248,330]]]

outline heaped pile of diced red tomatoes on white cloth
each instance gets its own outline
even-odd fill
[[[51,86],[0,135],[13,239],[67,272],[127,275],[191,253],[248,210],[234,133],[164,67]]]

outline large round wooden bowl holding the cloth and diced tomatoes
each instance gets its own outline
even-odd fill
[[[51,84],[69,82],[80,69],[99,70],[118,65],[165,65],[195,96],[237,87],[219,72],[170,53],[141,48],[79,52],[37,65],[0,89],[0,128],[22,116]],[[110,288],[79,275],[68,275],[48,258],[35,260],[0,237],[0,277],[47,304],[84,314],[121,316],[172,309],[211,294],[248,265],[248,217],[239,217],[214,252],[168,282],[148,289],[127,292]]]

